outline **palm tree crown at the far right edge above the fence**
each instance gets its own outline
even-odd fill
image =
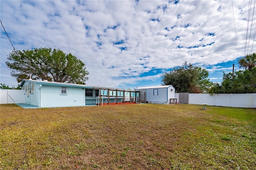
[[[248,68],[251,71],[252,68],[256,66],[256,53],[247,54],[244,58],[240,58],[239,67],[245,67],[245,70]]]

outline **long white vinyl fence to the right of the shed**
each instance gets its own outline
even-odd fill
[[[175,93],[178,102],[179,94]],[[250,94],[193,94],[188,95],[188,104],[203,104],[210,106],[227,106],[240,108],[256,108],[256,93]]]

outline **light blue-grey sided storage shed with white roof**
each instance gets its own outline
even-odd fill
[[[175,98],[172,85],[140,87],[136,91],[140,92],[140,103],[170,104],[170,99]]]

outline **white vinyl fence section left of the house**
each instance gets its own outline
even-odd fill
[[[25,103],[24,90],[0,89],[0,104]]]

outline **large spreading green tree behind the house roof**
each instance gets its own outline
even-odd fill
[[[34,80],[85,84],[89,74],[85,64],[59,49],[34,48],[12,51],[6,65],[18,82],[32,75]]]

